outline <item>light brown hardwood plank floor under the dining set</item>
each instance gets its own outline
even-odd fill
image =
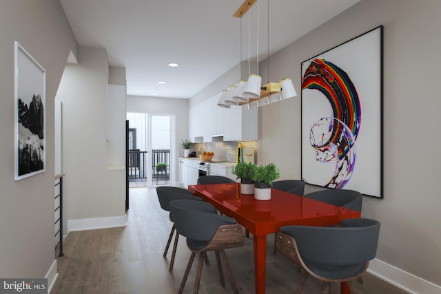
[[[127,227],[69,233],[64,242],[65,255],[58,258],[59,276],[52,294],[177,293],[190,255],[185,238],[179,239],[174,269],[169,272],[171,248],[167,258],[163,258],[163,250],[172,223],[168,213],[159,207],[156,190],[130,189],[130,205]],[[273,240],[274,235],[269,235],[266,293],[294,293],[300,273],[295,264],[280,254],[273,255]],[[226,253],[239,293],[254,293],[252,237],[245,246],[227,249]],[[214,253],[209,253],[209,260],[211,265],[203,267],[199,293],[232,293],[228,280],[225,288],[220,286]],[[193,292],[195,273],[194,264],[184,293]],[[407,293],[369,273],[363,279],[364,284],[352,283],[355,293]],[[321,291],[321,282],[309,277],[302,293]],[[331,293],[340,293],[338,284],[331,286]]]

